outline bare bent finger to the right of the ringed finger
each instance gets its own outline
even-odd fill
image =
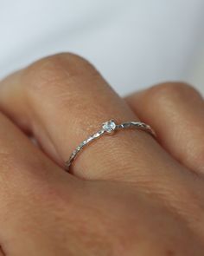
[[[204,173],[204,102],[187,84],[169,82],[126,98],[155,128],[158,140],[186,167]]]

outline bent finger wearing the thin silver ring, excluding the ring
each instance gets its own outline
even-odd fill
[[[5,79],[0,102],[3,111],[31,129],[61,166],[103,121],[137,121],[92,65],[71,54],[48,57]],[[163,175],[161,166],[168,172],[172,164],[175,169],[175,162],[150,135],[125,130],[86,147],[73,164],[73,173],[86,179],[132,181],[144,170]]]

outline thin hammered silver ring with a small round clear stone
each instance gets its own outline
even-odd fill
[[[153,135],[154,137],[156,136],[154,130],[150,128],[150,125],[141,121],[127,121],[122,122],[121,124],[117,124],[114,120],[105,121],[102,124],[102,128],[97,133],[89,136],[85,141],[82,141],[80,145],[73,150],[73,153],[70,155],[69,159],[65,163],[66,171],[70,172],[70,167],[73,161],[76,159],[78,154],[80,154],[80,151],[83,148],[85,148],[86,145],[88,145],[91,141],[94,141],[95,139],[99,138],[102,135],[111,135],[114,131],[124,128],[137,128],[145,132],[148,132],[150,135]]]

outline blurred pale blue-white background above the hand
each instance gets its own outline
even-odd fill
[[[0,79],[71,51],[120,95],[184,81],[204,94],[203,0],[0,0]]]

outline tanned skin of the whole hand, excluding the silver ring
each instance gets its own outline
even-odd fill
[[[0,255],[175,256],[204,252],[204,102],[168,82],[120,98],[73,54],[0,82]],[[80,141],[116,121],[74,162]],[[29,140],[35,137],[37,145]]]

